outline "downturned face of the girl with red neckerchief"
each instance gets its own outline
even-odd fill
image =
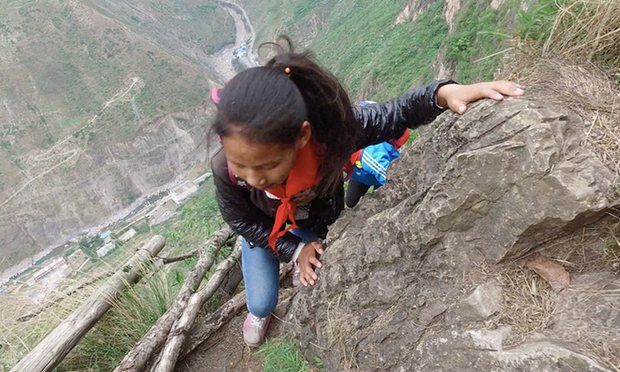
[[[310,140],[310,132],[306,121],[295,143],[283,145],[257,142],[233,131],[222,137],[222,146],[234,174],[256,189],[266,190],[286,181],[297,151]]]

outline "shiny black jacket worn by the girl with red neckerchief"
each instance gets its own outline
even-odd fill
[[[398,138],[406,128],[416,128],[433,121],[443,111],[435,102],[435,94],[442,85],[449,83],[453,82],[435,81],[390,101],[354,108],[355,117],[363,128],[358,149]],[[250,244],[271,251],[267,238],[279,200],[268,198],[265,192],[247,186],[243,180],[230,175],[222,149],[211,159],[211,169],[224,221]],[[308,218],[296,218],[296,222],[324,238],[327,226],[336,221],[342,209],[344,191],[341,186],[329,197],[314,199],[306,208]],[[280,260],[290,261],[300,241],[290,232],[278,239],[276,248]]]

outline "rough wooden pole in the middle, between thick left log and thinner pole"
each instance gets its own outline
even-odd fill
[[[150,360],[151,356],[158,351],[166,341],[168,333],[174,322],[179,319],[183,309],[187,306],[190,296],[196,292],[202,278],[213,265],[215,255],[220,247],[233,235],[233,231],[225,225],[220,230],[211,235],[205,243],[205,248],[200,250],[201,256],[194,270],[185,279],[177,298],[170,308],[162,315],[157,322],[149,329],[146,335],[134,345],[125,355],[125,358],[116,367],[114,372],[142,371]]]

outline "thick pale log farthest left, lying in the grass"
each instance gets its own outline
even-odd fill
[[[82,337],[111,307],[110,301],[129,285],[140,280],[142,264],[152,260],[164,247],[165,240],[154,236],[114,274],[108,283],[50,332],[34,349],[11,369],[12,372],[53,370]]]

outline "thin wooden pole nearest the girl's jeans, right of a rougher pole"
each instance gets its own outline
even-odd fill
[[[241,244],[238,244],[230,256],[217,266],[207,284],[192,295],[183,315],[170,330],[166,346],[160,355],[160,362],[153,367],[152,371],[170,372],[174,370],[181,347],[185,342],[185,337],[194,324],[200,308],[215,293],[222,280],[224,280],[226,273],[239,261],[240,257]]]

